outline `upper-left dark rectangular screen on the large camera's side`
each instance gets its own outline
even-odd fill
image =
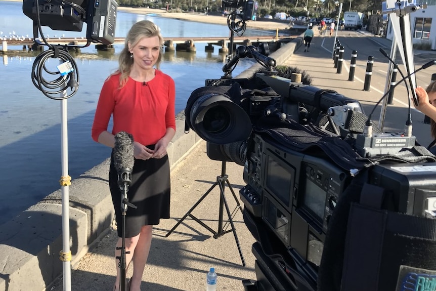
[[[267,188],[289,207],[291,189],[294,185],[294,170],[281,165],[271,155],[268,156],[267,167]]]

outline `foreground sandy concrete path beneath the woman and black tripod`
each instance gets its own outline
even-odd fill
[[[216,177],[221,175],[222,163],[210,160],[205,153],[205,146],[204,141],[200,142],[171,172],[171,219],[162,220],[153,229],[153,241],[142,290],[205,290],[206,273],[210,267],[215,267],[219,275],[219,290],[243,290],[242,279],[255,279],[254,256],[251,253],[254,239],[243,223],[239,208],[233,222],[246,267],[242,267],[233,232],[214,239],[211,232],[188,217],[174,232],[165,237],[212,186]],[[243,167],[228,162],[226,173],[239,200],[238,191],[245,185],[242,178]],[[225,196],[232,212],[237,204],[228,187],[225,188]],[[219,203],[220,188],[216,186],[192,214],[217,231]],[[224,215],[224,222],[226,220],[227,215]],[[116,232],[111,230],[92,252],[83,257],[72,271],[73,291],[112,290],[116,274],[113,259],[116,240]],[[127,277],[130,276],[132,270],[128,270]],[[62,278],[51,290],[63,290]]]

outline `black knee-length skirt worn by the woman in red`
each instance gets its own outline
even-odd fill
[[[154,149],[154,146],[147,146]],[[144,225],[157,225],[159,220],[169,218],[170,173],[168,155],[157,159],[135,159],[132,184],[127,198],[138,208],[127,207],[125,214],[125,237],[137,236]],[[122,237],[122,191],[118,185],[118,173],[113,164],[113,151],[109,168],[109,188],[115,209],[118,236]]]

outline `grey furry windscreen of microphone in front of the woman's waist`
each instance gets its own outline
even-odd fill
[[[113,160],[117,172],[125,168],[133,169],[135,156],[133,136],[131,134],[119,132],[115,135]]]

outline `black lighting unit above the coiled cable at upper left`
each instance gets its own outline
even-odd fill
[[[82,31],[85,22],[86,39],[105,45],[114,42],[117,7],[115,0],[23,1],[23,13],[33,20],[34,39],[39,38],[38,24],[53,30]]]

